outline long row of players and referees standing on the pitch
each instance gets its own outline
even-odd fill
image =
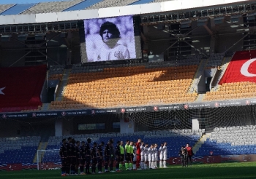
[[[137,142],[127,140],[126,145],[123,145],[123,141],[117,141],[114,145],[113,139],[108,140],[106,145],[104,142],[99,144],[94,142],[91,145],[90,138],[81,143],[73,138],[63,139],[59,150],[61,176],[78,175],[78,169],[80,175],[95,174],[96,168],[98,173],[121,172],[123,166],[125,170],[156,169],[158,159],[159,167],[166,167],[167,143],[161,143],[157,148],[157,143],[149,146],[148,143],[138,139]],[[105,146],[104,150],[103,146]],[[116,170],[113,170],[114,163]]]

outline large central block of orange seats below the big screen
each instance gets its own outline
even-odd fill
[[[197,65],[189,65],[186,60],[181,63],[185,65],[148,63],[131,67],[99,68],[94,72],[84,67],[73,67],[63,100],[53,101],[50,109],[193,102],[197,93],[189,93],[188,90]]]

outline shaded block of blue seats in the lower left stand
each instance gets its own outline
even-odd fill
[[[33,163],[39,136],[0,138],[0,164]]]

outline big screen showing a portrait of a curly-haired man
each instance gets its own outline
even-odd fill
[[[132,16],[84,20],[88,62],[135,59]]]

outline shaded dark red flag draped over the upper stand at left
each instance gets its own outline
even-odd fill
[[[0,68],[0,112],[41,106],[46,71],[46,65]]]

